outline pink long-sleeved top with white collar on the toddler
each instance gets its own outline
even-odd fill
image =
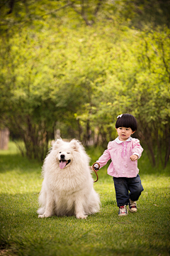
[[[139,169],[137,168],[137,160],[131,161],[130,156],[136,154],[139,159],[142,151],[139,139],[129,137],[125,142],[122,142],[116,138],[114,141],[108,142],[108,149],[103,152],[97,162],[100,167],[103,167],[111,159],[111,164],[108,166],[108,175],[116,178],[134,178],[139,173]]]

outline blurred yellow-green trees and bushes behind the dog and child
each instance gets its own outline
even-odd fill
[[[44,159],[57,129],[106,147],[128,112],[153,166],[166,166],[169,1],[6,0],[0,9],[1,127],[29,158]]]

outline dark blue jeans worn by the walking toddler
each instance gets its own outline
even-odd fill
[[[117,206],[128,206],[129,198],[132,201],[137,201],[144,190],[139,174],[135,178],[115,178],[115,196]],[[129,192],[130,191],[130,192]]]

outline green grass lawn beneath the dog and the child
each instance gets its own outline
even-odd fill
[[[101,150],[88,153],[92,164]],[[136,214],[118,217],[113,180],[103,168],[94,183],[99,213],[86,220],[40,219],[40,163],[23,158],[10,142],[8,151],[0,151],[0,255],[169,255],[169,166],[153,169],[144,152],[139,167],[145,191]]]

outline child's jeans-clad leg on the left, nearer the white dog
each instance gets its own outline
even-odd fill
[[[115,178],[113,177],[115,185],[115,196],[117,201],[117,206],[128,206],[129,195],[128,195],[128,183],[126,178]]]

